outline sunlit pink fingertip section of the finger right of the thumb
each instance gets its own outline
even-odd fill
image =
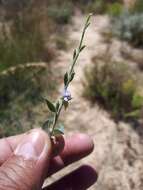
[[[75,134],[65,139],[65,147],[60,156],[51,160],[47,176],[59,171],[65,166],[89,155],[94,149],[91,138],[85,134]]]

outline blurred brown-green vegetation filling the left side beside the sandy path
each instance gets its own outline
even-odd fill
[[[55,93],[52,61],[67,48],[65,27],[72,15],[72,5],[65,2],[59,9],[59,2],[0,5],[0,136],[33,128],[42,94]]]

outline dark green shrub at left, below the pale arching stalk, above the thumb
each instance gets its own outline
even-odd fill
[[[55,92],[53,80],[50,65],[47,69],[39,64],[0,74],[0,137],[34,127],[35,108],[40,105],[42,94],[52,96]]]

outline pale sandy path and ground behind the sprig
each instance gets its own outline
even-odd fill
[[[73,24],[69,27],[69,40],[73,46],[79,42],[84,17],[76,15]],[[74,163],[63,171],[51,177],[57,178],[71,172],[82,164],[96,167],[99,178],[90,190],[142,190],[143,189],[143,128],[133,129],[130,125],[119,123],[118,125],[110,119],[106,111],[97,105],[91,107],[82,98],[83,71],[90,65],[91,58],[105,51],[106,44],[100,34],[106,30],[108,18],[96,16],[88,29],[85,37],[87,48],[81,54],[75,72],[76,77],[70,86],[74,97],[66,113],[64,123],[66,134],[76,132],[87,133],[94,140],[95,149],[93,153],[80,162]],[[120,59],[120,44],[113,44],[114,56]],[[63,73],[71,60],[73,47],[67,52],[61,52],[58,63],[63,68]],[[61,90],[61,89],[60,89]],[[49,180],[51,182],[51,180]]]

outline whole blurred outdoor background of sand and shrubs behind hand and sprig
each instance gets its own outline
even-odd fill
[[[143,187],[143,0],[0,0],[0,137],[41,127],[41,97],[55,100],[94,13],[61,120],[67,135],[95,143],[81,164],[96,166],[91,190]]]

